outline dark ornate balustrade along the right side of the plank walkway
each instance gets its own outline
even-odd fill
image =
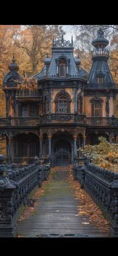
[[[118,173],[85,163],[74,166],[73,176],[109,221],[109,236],[118,237]]]

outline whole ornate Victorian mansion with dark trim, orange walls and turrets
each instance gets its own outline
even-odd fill
[[[108,40],[101,29],[92,41],[89,74],[73,56],[73,41],[53,40],[41,72],[31,79],[36,86],[21,88],[22,78],[13,57],[2,90],[6,117],[0,118],[0,137],[6,139],[6,160],[31,163],[34,157],[53,165],[72,164],[79,148],[98,144],[98,137],[115,143],[118,119],[113,106],[118,89],[109,67]],[[56,159],[56,162],[55,162]]]

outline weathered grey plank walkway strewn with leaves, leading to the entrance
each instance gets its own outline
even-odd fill
[[[78,200],[74,199],[68,171],[56,171],[53,180],[46,184],[39,205],[33,215],[18,222],[18,235],[24,237],[106,237],[89,217],[75,216]],[[85,220],[84,220],[85,219]],[[89,222],[85,225],[82,222]]]

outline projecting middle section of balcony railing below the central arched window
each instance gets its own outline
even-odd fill
[[[42,114],[40,115],[39,123],[85,123],[85,114],[71,114],[71,113],[55,113],[55,114]]]

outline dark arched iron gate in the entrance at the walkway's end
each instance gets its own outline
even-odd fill
[[[71,154],[67,149],[56,149],[51,157],[51,167],[68,166],[71,163]]]

